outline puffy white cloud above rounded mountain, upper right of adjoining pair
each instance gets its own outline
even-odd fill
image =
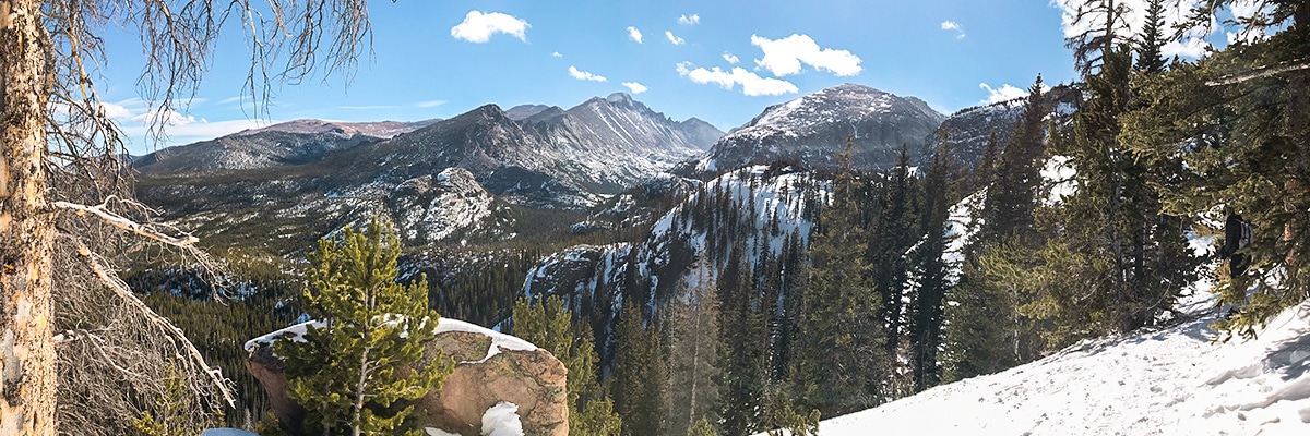
[[[808,35],[793,34],[782,39],[751,35],[751,45],[764,51],[764,59],[755,63],[778,77],[799,73],[802,63],[837,76],[854,76],[863,69],[858,56],[845,50],[820,48]]]

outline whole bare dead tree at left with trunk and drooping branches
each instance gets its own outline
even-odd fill
[[[96,92],[100,35],[139,33],[138,88],[165,139],[229,22],[250,48],[255,115],[278,84],[348,76],[371,38],[367,0],[0,0],[0,433],[123,433],[155,407],[164,368],[198,399],[189,420],[231,405],[221,374],[114,274],[141,244],[214,264],[130,200],[122,131]]]

